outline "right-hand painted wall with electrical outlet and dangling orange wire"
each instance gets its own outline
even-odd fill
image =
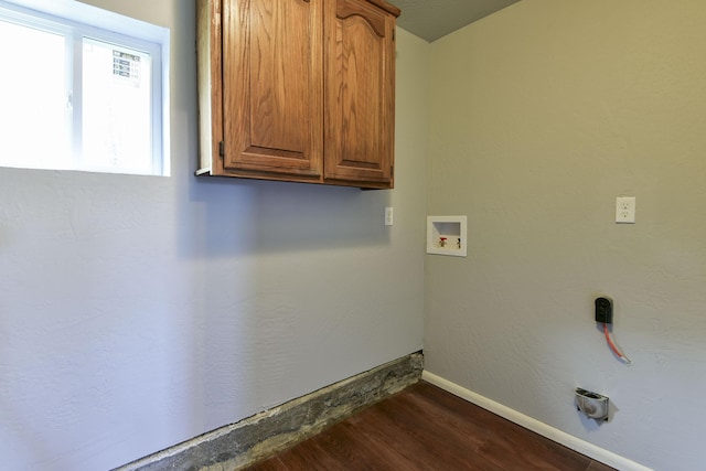
[[[656,470],[704,469],[704,24],[703,1],[524,0],[431,44],[429,213],[469,216],[469,256],[427,257],[427,370]]]

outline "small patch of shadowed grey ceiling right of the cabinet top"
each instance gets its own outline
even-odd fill
[[[397,25],[429,42],[518,0],[391,0],[402,10]]]

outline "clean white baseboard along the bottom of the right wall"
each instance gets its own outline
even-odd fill
[[[556,441],[557,443],[570,448],[571,450],[576,450],[579,453],[585,454],[596,461],[608,464],[609,467],[616,468],[621,471],[653,471],[650,468],[616,454],[612,451],[608,451],[603,448],[597,447],[593,443],[589,443],[588,441],[568,435],[559,429],[541,422],[539,420],[525,416],[524,414],[511,409],[510,407],[495,403],[488,397],[473,393],[472,390],[459,386],[456,383],[451,383],[450,381],[437,376],[434,373],[429,373],[426,370],[421,373],[421,379],[439,386],[441,389],[448,390],[454,396],[461,397],[469,403],[473,403],[485,410],[490,410],[491,413],[496,414],[528,430],[532,430],[535,433],[546,437],[549,440]]]

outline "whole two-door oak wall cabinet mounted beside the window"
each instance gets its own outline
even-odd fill
[[[197,0],[197,174],[391,189],[384,0]]]

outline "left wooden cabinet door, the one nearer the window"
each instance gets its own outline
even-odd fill
[[[224,0],[223,173],[321,180],[322,1]]]

